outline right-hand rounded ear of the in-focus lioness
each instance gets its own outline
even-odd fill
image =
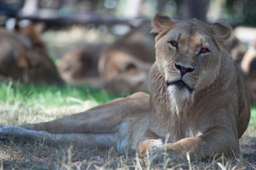
[[[227,22],[219,20],[218,22],[211,25],[211,31],[214,34],[216,40],[220,43],[223,43],[230,37],[232,28]]]

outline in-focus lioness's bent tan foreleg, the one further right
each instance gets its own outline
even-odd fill
[[[166,154],[171,160],[187,159],[191,160],[209,159],[212,156],[222,153],[228,158],[233,159],[240,155],[238,140],[232,133],[224,133],[219,129],[211,129],[201,136],[184,138],[176,143],[166,143],[156,148],[150,153],[150,161],[155,162]]]

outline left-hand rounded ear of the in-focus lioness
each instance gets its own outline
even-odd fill
[[[171,18],[167,17],[163,13],[157,13],[152,22],[153,29],[151,32],[154,34],[159,34],[159,32],[164,31],[166,29],[170,29],[170,27],[174,24]]]

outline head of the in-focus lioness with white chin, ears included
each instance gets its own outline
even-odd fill
[[[211,84],[220,69],[220,36],[228,37],[230,26],[209,26],[196,19],[173,22],[158,14],[154,19],[156,62],[173,98],[193,99],[196,91]]]

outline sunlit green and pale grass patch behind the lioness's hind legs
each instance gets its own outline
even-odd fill
[[[0,83],[0,124],[24,124],[52,120],[88,110],[116,97],[105,90],[68,85]]]

